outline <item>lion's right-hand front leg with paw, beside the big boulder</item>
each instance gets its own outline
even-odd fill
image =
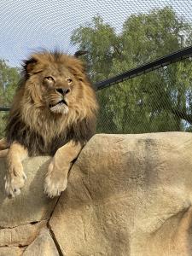
[[[80,143],[70,141],[56,151],[53,160],[49,164],[44,182],[44,192],[49,197],[61,195],[61,192],[66,189],[68,171],[72,161],[78,157],[81,148]]]

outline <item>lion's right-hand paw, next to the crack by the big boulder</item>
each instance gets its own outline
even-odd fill
[[[61,195],[67,188],[67,178],[47,175],[44,181],[44,193],[50,198]]]

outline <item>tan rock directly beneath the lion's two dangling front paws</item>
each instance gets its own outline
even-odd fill
[[[4,192],[5,164],[0,160],[0,227],[15,227],[20,224],[49,218],[55,207],[55,200],[44,195],[44,176],[49,165],[49,157],[34,157],[24,161],[26,184],[21,194],[8,199]]]

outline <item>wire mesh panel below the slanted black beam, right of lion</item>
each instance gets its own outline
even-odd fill
[[[191,68],[180,61],[99,90],[97,132],[191,131]]]

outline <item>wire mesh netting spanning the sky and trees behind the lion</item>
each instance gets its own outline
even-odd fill
[[[192,45],[192,0],[0,3],[0,105],[9,106],[20,62],[35,49],[82,60],[93,84]],[[191,131],[192,61],[97,91],[97,132]],[[0,136],[7,113],[0,113]]]

